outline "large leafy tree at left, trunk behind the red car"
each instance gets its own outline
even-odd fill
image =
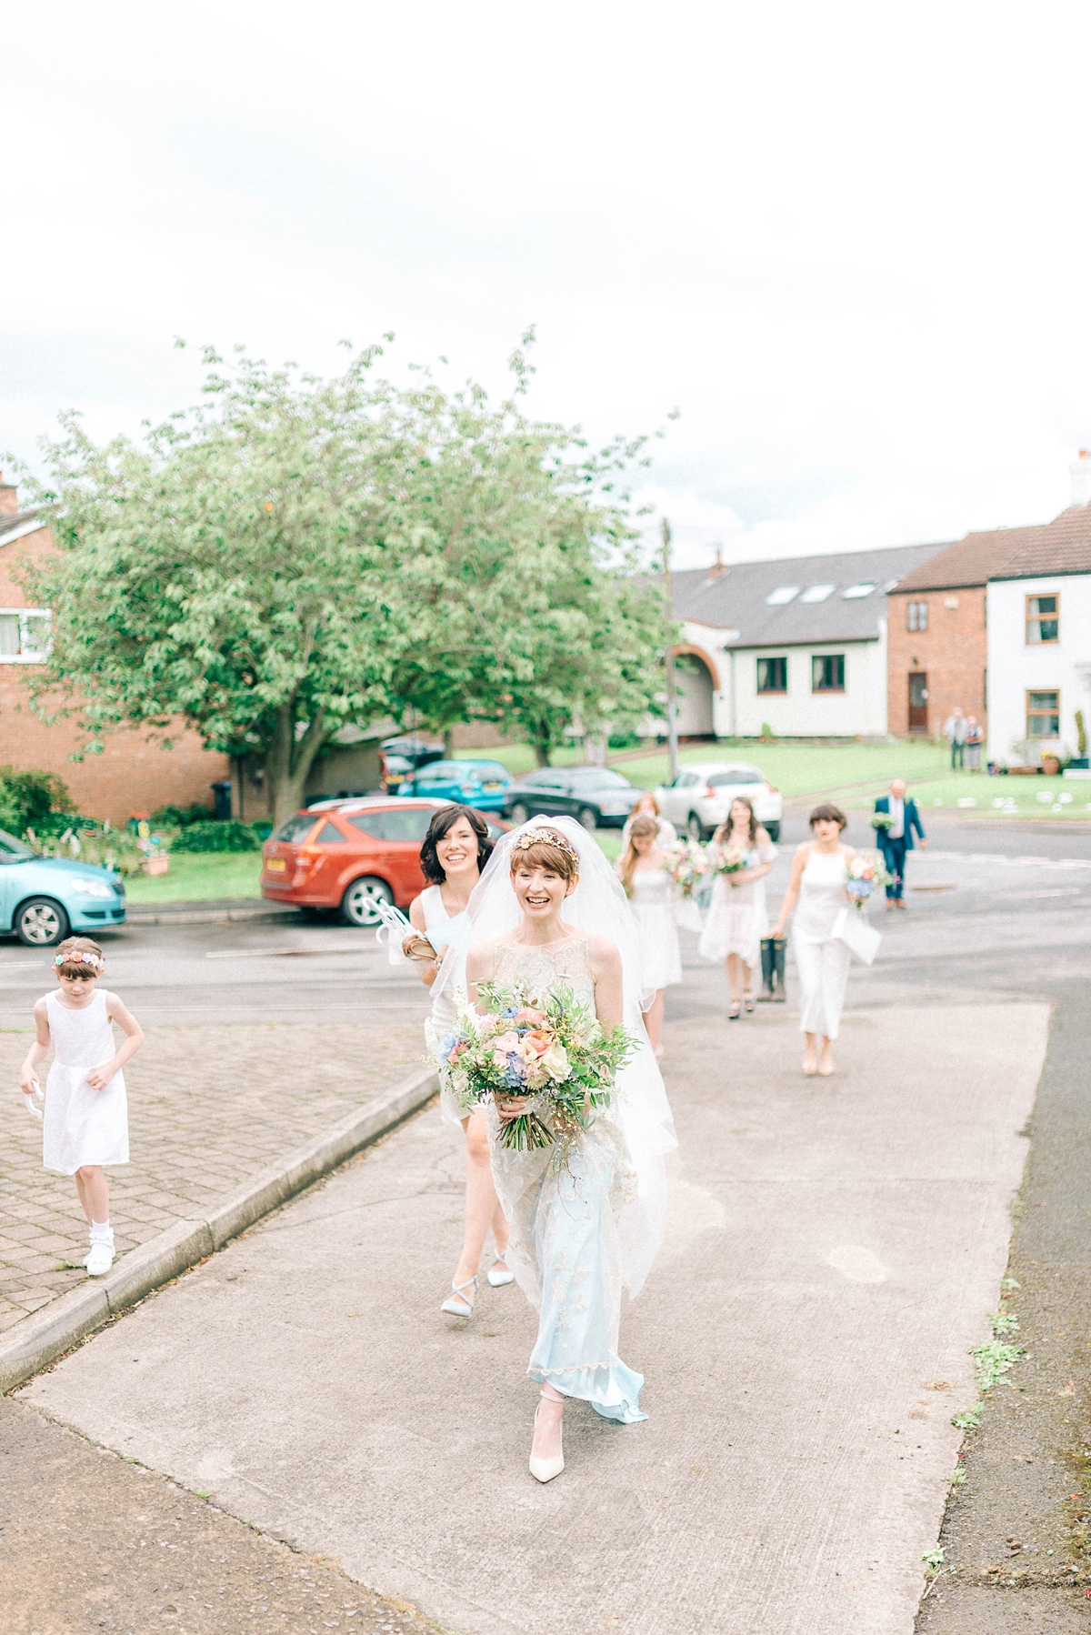
[[[388,703],[409,639],[396,399],[375,350],[296,379],[240,356],[206,404],[97,446],[79,419],[47,445],[59,551],[29,589],[54,615],[39,711],[79,714],[87,752],[119,724],[203,741],[265,768],[275,821],[319,749]],[[168,737],[164,739],[168,747]]]

